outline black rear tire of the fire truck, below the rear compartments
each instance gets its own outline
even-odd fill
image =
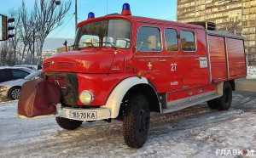
[[[213,110],[229,110],[232,102],[232,87],[230,82],[224,82],[223,96],[207,102],[209,108]]]

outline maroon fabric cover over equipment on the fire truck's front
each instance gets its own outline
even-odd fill
[[[18,103],[18,115],[27,118],[55,115],[61,103],[61,87],[42,78],[24,83]]]

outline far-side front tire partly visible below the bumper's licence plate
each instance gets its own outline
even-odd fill
[[[83,121],[71,120],[63,117],[56,117],[58,125],[67,130],[73,130],[81,126]]]

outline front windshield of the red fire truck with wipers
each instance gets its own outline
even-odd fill
[[[130,48],[131,24],[127,20],[102,20],[79,27],[74,49]]]

